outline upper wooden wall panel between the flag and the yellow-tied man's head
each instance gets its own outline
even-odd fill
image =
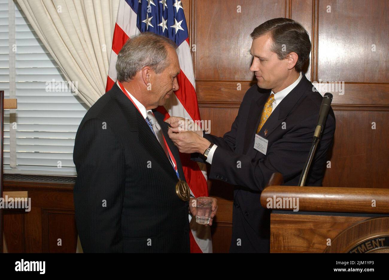
[[[285,0],[196,0],[196,80],[252,80],[250,33],[263,21],[284,17],[285,3]]]

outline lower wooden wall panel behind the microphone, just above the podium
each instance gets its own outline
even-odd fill
[[[335,118],[331,168],[323,185],[388,188],[388,112],[340,110]]]

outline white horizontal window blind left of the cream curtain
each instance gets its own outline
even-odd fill
[[[0,90],[9,96],[13,75],[9,65],[14,59],[18,100],[14,116],[11,111],[10,117],[10,110],[4,111],[4,173],[74,176],[74,139],[88,106],[74,95],[19,5],[13,1],[12,5],[14,10],[9,11],[8,0],[0,0]],[[14,58],[9,55],[9,32],[13,29],[9,28],[9,12],[14,12]],[[11,129],[16,122],[14,156],[10,153],[10,120]],[[10,165],[12,156],[16,167]]]

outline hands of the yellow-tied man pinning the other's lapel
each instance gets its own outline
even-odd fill
[[[181,130],[179,127],[170,127],[168,129],[168,135],[181,153],[203,154],[211,144],[207,139],[199,136],[195,132]]]

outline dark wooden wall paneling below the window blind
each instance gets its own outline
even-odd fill
[[[11,179],[17,175],[7,174],[5,191],[28,191],[31,210],[6,209],[4,211],[4,235],[11,253],[75,252],[77,229],[74,218],[74,182]],[[34,178],[33,178],[34,177]],[[50,176],[47,176],[50,177]],[[62,245],[57,245],[58,238]]]

